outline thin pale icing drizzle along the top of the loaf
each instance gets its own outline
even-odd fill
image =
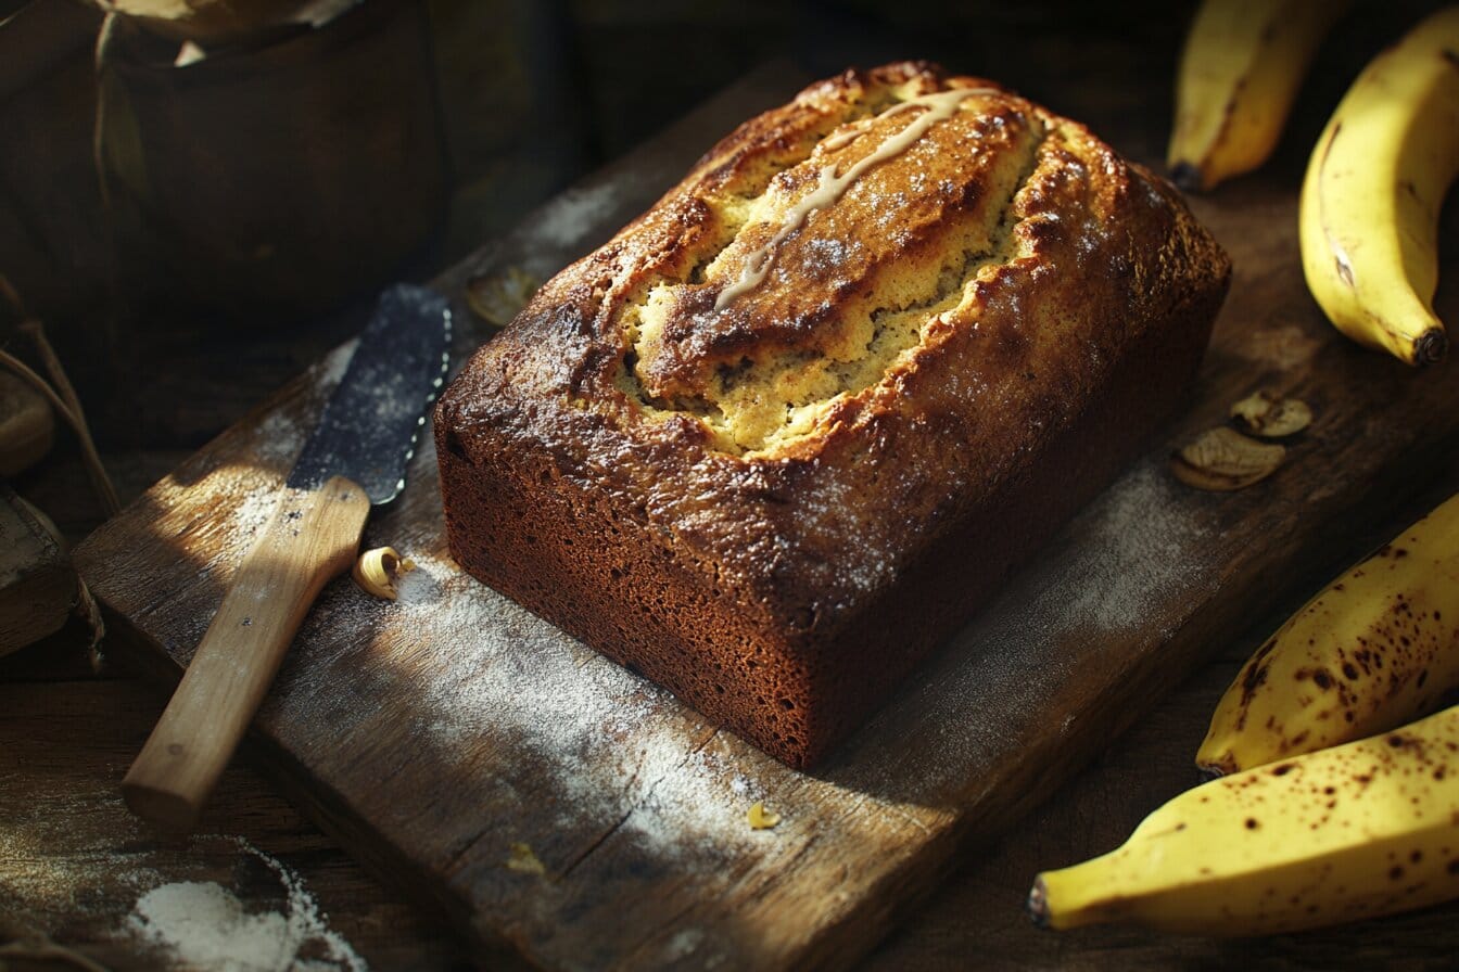
[[[951,118],[967,98],[972,98],[973,95],[996,93],[999,93],[996,87],[953,87],[945,92],[932,92],[931,95],[909,98],[881,112],[881,118],[890,118],[891,115],[907,111],[909,108],[926,108],[926,111],[913,118],[906,128],[884,140],[856,165],[846,169],[846,172],[837,173],[836,163],[821,166],[820,179],[817,181],[816,188],[807,192],[795,205],[789,208],[789,211],[786,211],[785,217],[781,220],[781,227],[775,232],[775,236],[772,236],[769,242],[746,256],[744,264],[740,268],[740,278],[721,290],[719,296],[715,299],[715,310],[724,310],[735,297],[754,290],[760,281],[765,280],[766,274],[770,273],[770,265],[775,262],[775,251],[785,240],[785,238],[800,229],[801,224],[810,219],[811,213],[839,200],[851,184],[859,179],[867,169],[878,162],[890,159],[897,153],[906,152],[913,143],[916,143],[918,138],[925,136],[932,125],[945,118]],[[855,130],[842,133],[839,136],[832,136],[823,144],[832,150],[840,149],[855,141],[861,137],[861,131]]]

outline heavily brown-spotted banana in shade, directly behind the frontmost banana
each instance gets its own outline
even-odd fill
[[[1459,495],[1294,614],[1215,707],[1196,764],[1236,772],[1363,739],[1459,688]]]

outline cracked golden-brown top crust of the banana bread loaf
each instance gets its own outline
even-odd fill
[[[549,281],[441,421],[814,625],[1018,475],[1142,329],[1210,326],[1188,310],[1227,275],[1083,125],[935,66],[848,71]]]

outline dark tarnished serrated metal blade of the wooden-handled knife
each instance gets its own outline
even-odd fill
[[[410,284],[385,290],[293,463],[289,485],[311,490],[344,475],[363,487],[371,503],[394,500],[406,488],[426,409],[445,382],[449,347],[445,297]]]

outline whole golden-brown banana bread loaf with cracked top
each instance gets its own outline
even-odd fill
[[[1172,415],[1228,274],[1083,125],[848,71],[467,363],[435,420],[451,552],[805,767]]]

